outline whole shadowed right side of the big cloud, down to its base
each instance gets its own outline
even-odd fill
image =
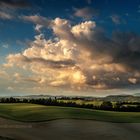
[[[103,89],[125,88],[129,86],[139,86],[139,76],[136,73],[140,72],[140,36],[130,32],[115,32],[112,37],[108,38],[105,34],[94,34],[94,39],[89,43],[92,59],[103,58],[100,62],[100,68],[96,70],[83,71],[86,75],[86,84],[94,86],[105,84]],[[105,60],[107,56],[111,58]],[[98,62],[97,62],[98,63]],[[108,65],[104,68],[104,65]],[[123,71],[118,71],[116,68],[109,71],[115,65],[121,65]],[[96,78],[93,79],[93,75]],[[130,78],[133,77],[133,78]]]

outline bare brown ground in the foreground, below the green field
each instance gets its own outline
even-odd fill
[[[55,120],[20,123],[0,118],[0,140],[139,140],[140,123]]]

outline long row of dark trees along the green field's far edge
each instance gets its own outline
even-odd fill
[[[123,111],[123,112],[140,112],[139,102],[117,102],[113,105],[112,102],[103,101],[100,106],[96,106],[93,104],[78,104],[72,101],[64,102],[63,100],[51,98],[20,99],[11,97],[11,98],[1,98],[0,103],[33,103],[47,106],[78,107],[78,108],[89,108],[108,111]]]

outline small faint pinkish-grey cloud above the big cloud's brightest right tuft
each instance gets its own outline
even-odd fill
[[[75,8],[74,11],[75,11],[74,16],[81,17],[84,19],[90,19],[98,15],[98,11],[90,7],[84,7],[80,9]]]

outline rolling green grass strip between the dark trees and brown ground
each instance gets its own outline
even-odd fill
[[[107,122],[140,122],[140,112],[113,112],[35,104],[0,104],[0,116],[24,122],[86,119]]]

